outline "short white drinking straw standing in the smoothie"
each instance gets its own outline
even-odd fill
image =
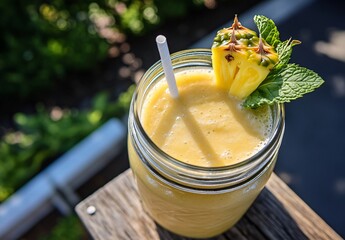
[[[176,86],[175,75],[174,75],[174,72],[172,69],[167,39],[163,35],[159,35],[156,37],[156,43],[157,43],[159,55],[161,57],[163,70],[165,73],[165,78],[168,82],[170,95],[173,98],[177,98],[178,97],[178,90],[177,90],[177,86]]]

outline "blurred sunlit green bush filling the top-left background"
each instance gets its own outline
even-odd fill
[[[25,101],[106,58],[119,33],[141,35],[203,0],[2,0],[0,101]]]

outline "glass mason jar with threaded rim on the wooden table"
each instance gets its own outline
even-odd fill
[[[211,51],[171,55],[173,69],[212,70]],[[244,161],[223,167],[198,167],[163,152],[145,133],[140,114],[148,92],[164,77],[160,62],[142,77],[128,119],[128,153],[145,210],[164,228],[187,237],[207,238],[232,227],[268,181],[284,133],[284,107],[271,106],[273,130],[264,147]]]

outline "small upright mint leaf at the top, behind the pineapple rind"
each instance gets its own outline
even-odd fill
[[[281,42],[279,31],[272,19],[263,15],[255,15],[254,22],[259,29],[260,35],[265,41],[274,48]]]

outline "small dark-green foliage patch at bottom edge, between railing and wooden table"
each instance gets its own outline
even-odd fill
[[[39,240],[80,240],[84,237],[83,227],[76,215],[60,218],[52,231]]]

